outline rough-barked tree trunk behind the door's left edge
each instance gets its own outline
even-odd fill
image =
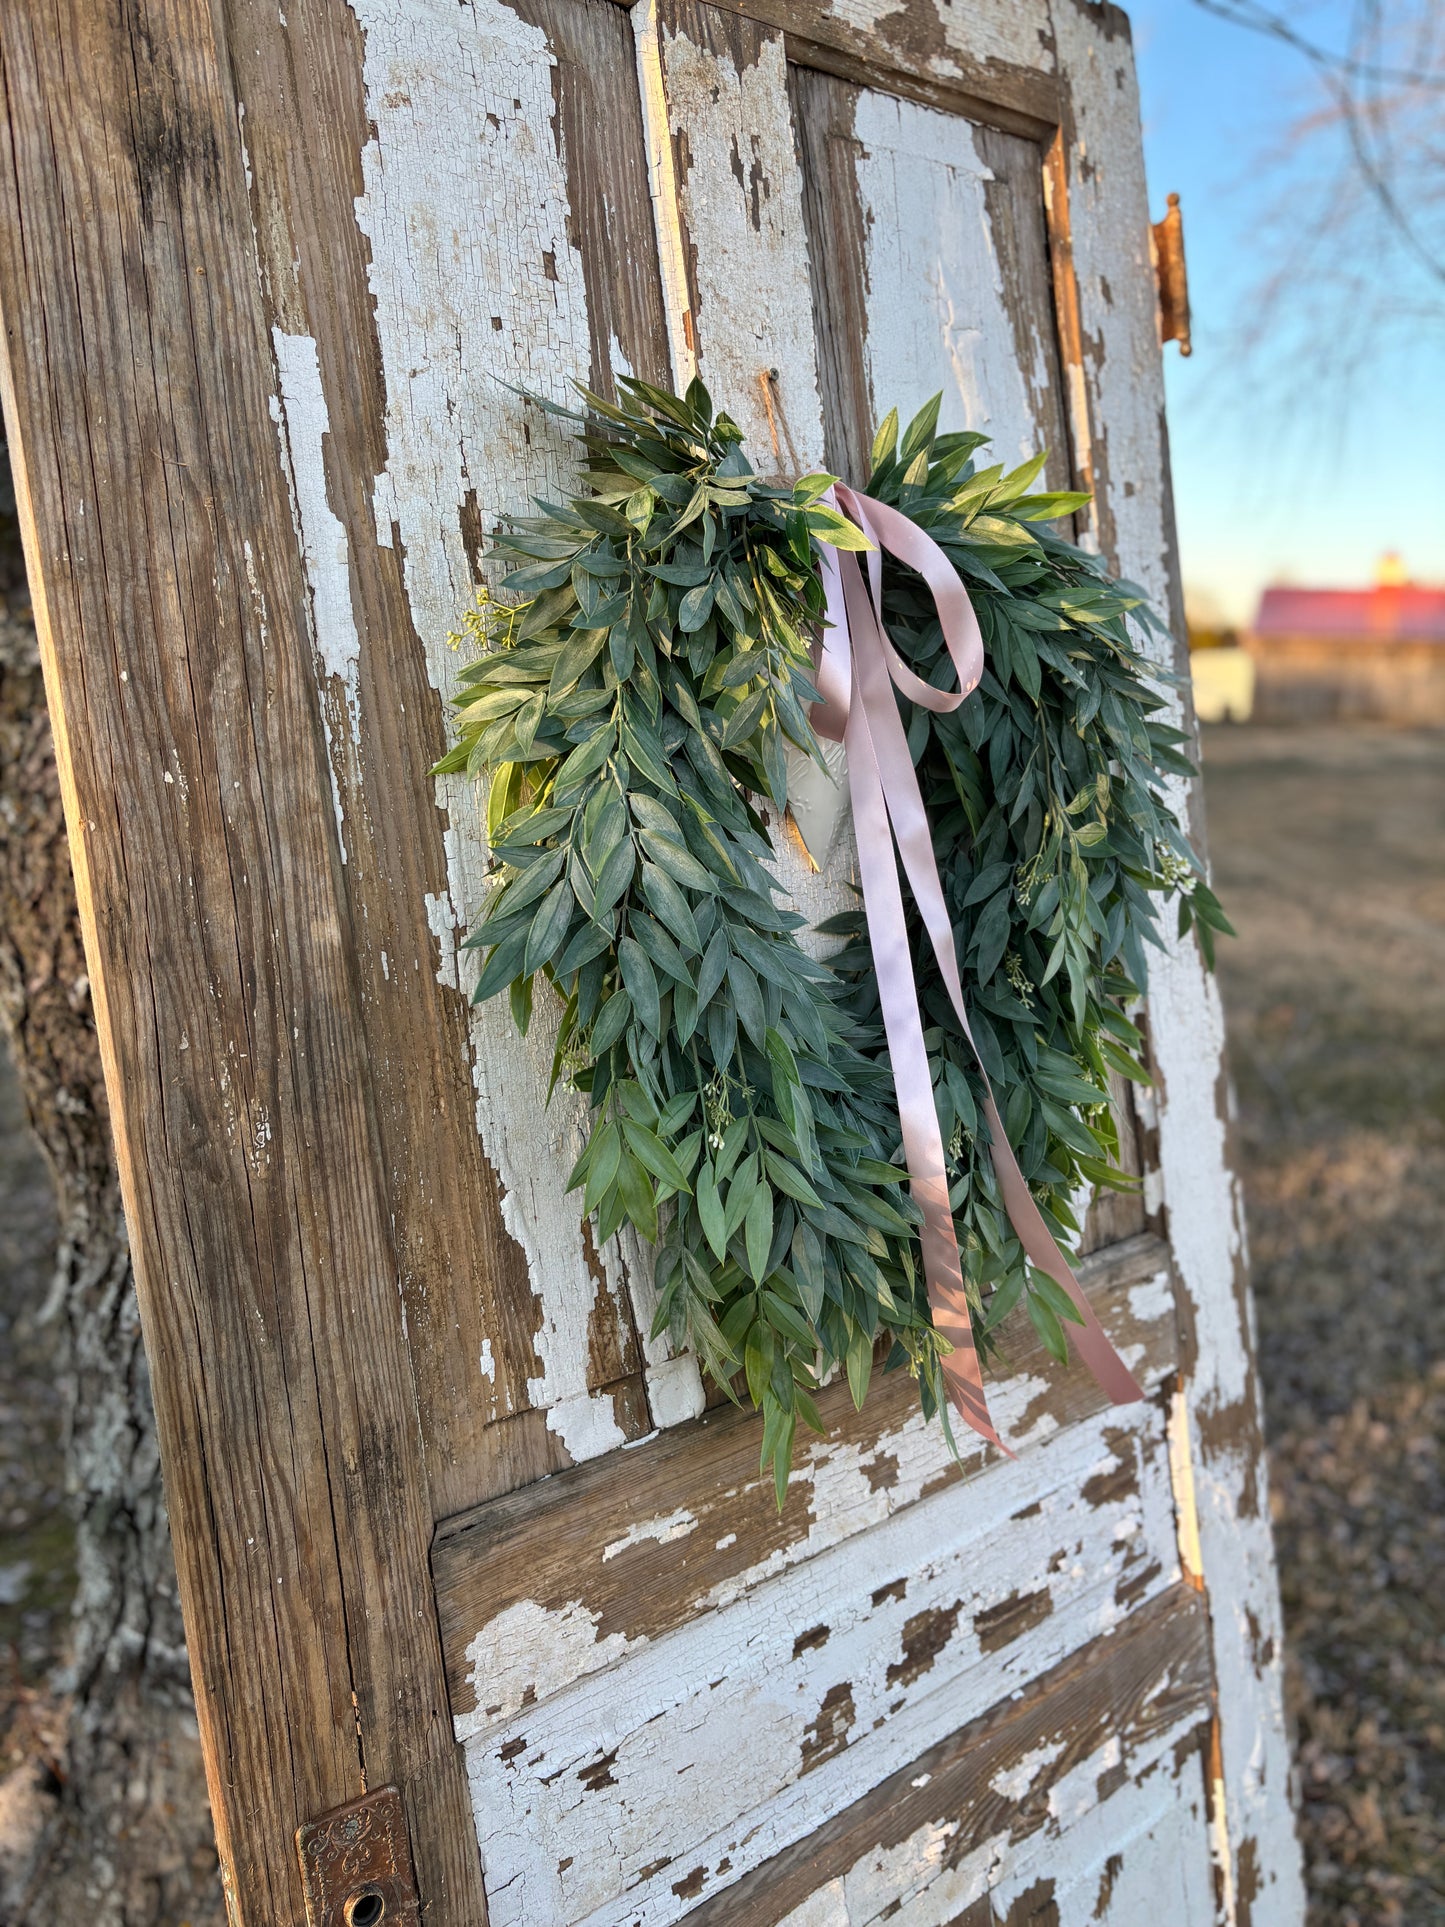
[[[8,493],[2,447],[0,476]],[[216,1854],[60,784],[8,509],[0,503],[0,1023],[56,1191],[44,1318],[77,1590],[56,1673],[56,1757],[33,1748],[0,1784],[0,1923],[202,1927],[223,1917]]]

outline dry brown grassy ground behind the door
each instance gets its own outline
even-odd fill
[[[1445,1921],[1445,734],[1218,728],[1239,1091],[1312,1927]],[[73,1582],[44,1170],[0,1064],[0,1775]],[[0,1815],[2,1823],[4,1815]]]

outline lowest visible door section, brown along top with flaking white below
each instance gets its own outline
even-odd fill
[[[1212,1908],[1198,1910],[1210,1898],[1198,1730],[1208,1707],[1206,1613],[1195,1594],[1175,1586],[1110,1640],[1071,1653],[1021,1696],[1000,1700],[911,1759],[807,1840],[705,1900],[688,1915],[690,1927],[724,1921],[726,1927],[863,1927],[880,1919],[906,1927],[1029,1919],[1058,1927],[1083,1927],[1085,1919],[1139,1927],[1146,1917],[1204,1927]],[[1137,1831],[1158,1827],[1160,1808],[1181,1813],[1189,1825],[1177,1833],[1164,1829],[1179,1850],[1173,1881],[1143,1887],[1135,1875],[1135,1840],[1116,1800],[1123,1792],[1139,1804],[1139,1788],[1150,1779],[1154,1798],[1144,1808],[1144,1829]],[[1077,1838],[1090,1808],[1104,1856],[1083,1852]],[[1114,1860],[1098,1908],[1100,1875]],[[1141,1871],[1158,1879],[1160,1867],[1150,1858]],[[1035,1894],[1033,1904],[1052,1902],[1054,1914],[1031,1912],[1023,1900],[1040,1875],[1048,1890]],[[1185,1906],[1175,1912],[1169,1890],[1177,1894],[1181,1885]],[[1062,1887],[1087,1894],[1087,1912],[1060,1906]],[[1125,1900],[1135,1908],[1144,1902],[1150,1914],[1123,1912]]]

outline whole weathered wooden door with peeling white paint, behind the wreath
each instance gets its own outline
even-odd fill
[[[838,1389],[778,1517],[565,1197],[547,1039],[468,1012],[478,800],[428,775],[486,530],[566,470],[518,387],[696,366],[761,466],[854,478],[942,387],[1177,605],[1123,15],[4,0],[0,56],[6,409],[233,1917],[299,1921],[297,1827],[389,1782],[447,1927],[1299,1921],[1193,948],[1085,1268],[1148,1401],[1017,1341],[1019,1457],[959,1470],[907,1382]]]

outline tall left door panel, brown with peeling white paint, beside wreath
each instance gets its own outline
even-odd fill
[[[472,786],[447,782],[437,809],[428,777],[460,669],[445,634],[484,536],[566,459],[514,385],[565,395],[572,374],[609,389],[615,366],[667,368],[630,31],[603,0],[233,12],[366,1044],[447,1513],[651,1422],[628,1264],[597,1254],[561,1195],[578,1106],[543,1118],[549,1043],[524,1046],[505,1010],[468,1019],[457,938],[486,850]],[[435,139],[462,125],[480,137]],[[505,1445],[487,1438],[497,1422]]]

